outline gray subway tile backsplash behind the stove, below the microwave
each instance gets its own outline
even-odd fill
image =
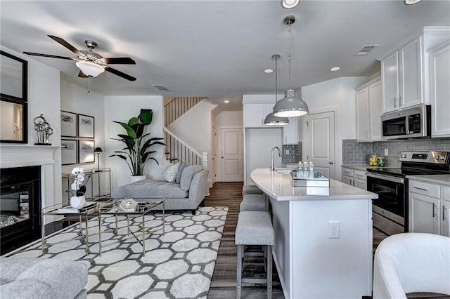
[[[283,146],[284,148],[284,146]],[[388,154],[385,156],[385,149]],[[450,138],[390,140],[381,142],[356,142],[356,139],[342,140],[342,164],[368,164],[371,154],[383,155],[386,166],[399,167],[402,150],[442,150],[450,152]]]

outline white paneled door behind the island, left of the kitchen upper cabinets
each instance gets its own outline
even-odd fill
[[[307,114],[304,117],[303,148],[307,161],[328,178],[335,178],[335,112]],[[304,158],[303,158],[304,159]]]

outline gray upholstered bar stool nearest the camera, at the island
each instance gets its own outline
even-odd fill
[[[240,298],[243,283],[266,284],[267,298],[272,298],[272,246],[275,244],[274,227],[269,213],[262,211],[243,211],[239,213],[236,226],[235,244],[238,246],[237,260],[237,298]],[[243,277],[245,245],[261,245],[265,249],[265,279]]]

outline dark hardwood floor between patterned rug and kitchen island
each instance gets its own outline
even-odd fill
[[[205,206],[228,206],[224,235],[221,239],[208,298],[236,298],[236,245],[234,232],[238,222],[239,204],[242,201],[243,182],[216,182],[205,199]],[[373,252],[386,234],[373,228]],[[248,264],[247,264],[248,265]],[[259,260],[250,260],[250,272],[262,270]],[[274,265],[273,298],[284,298],[280,279]],[[248,286],[248,285],[247,285]],[[264,298],[266,286],[243,286],[242,298]]]

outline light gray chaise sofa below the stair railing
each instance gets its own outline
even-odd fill
[[[165,197],[166,210],[190,210],[193,214],[202,204],[207,190],[208,171],[200,166],[187,166],[181,173],[179,183],[165,180],[141,180],[116,187],[111,196],[116,199],[154,200]],[[157,209],[162,209],[158,206]]]

